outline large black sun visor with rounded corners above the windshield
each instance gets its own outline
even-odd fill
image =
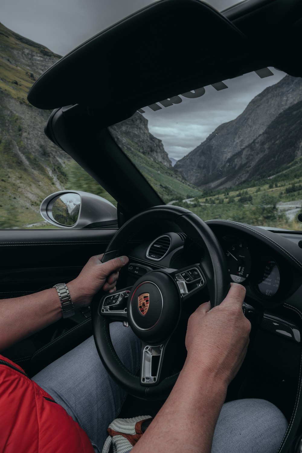
[[[38,78],[28,100],[54,109],[81,104],[127,115],[236,77],[247,39],[198,0],[162,0],[89,39]],[[125,115],[122,114],[125,112]],[[111,123],[112,124],[112,123]]]

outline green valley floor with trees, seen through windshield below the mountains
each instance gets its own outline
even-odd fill
[[[268,178],[241,186],[203,192],[193,204],[179,203],[203,220],[226,219],[252,225],[302,230],[297,214],[302,204],[302,160],[296,159]],[[286,213],[297,212],[289,219]],[[301,209],[302,212],[302,209]]]

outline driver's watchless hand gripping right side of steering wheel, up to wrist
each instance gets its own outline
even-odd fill
[[[200,305],[187,326],[187,361],[229,385],[244,360],[251,324],[244,317],[244,286],[236,283],[220,305]]]

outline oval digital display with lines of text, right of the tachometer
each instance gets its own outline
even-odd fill
[[[276,261],[268,255],[260,257],[257,282],[263,296],[273,297],[278,291],[280,272]]]

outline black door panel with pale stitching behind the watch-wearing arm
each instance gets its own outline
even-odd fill
[[[1,230],[0,299],[33,294],[74,279],[105,251],[116,229]],[[1,353],[33,376],[92,334],[90,312],[77,310]]]

